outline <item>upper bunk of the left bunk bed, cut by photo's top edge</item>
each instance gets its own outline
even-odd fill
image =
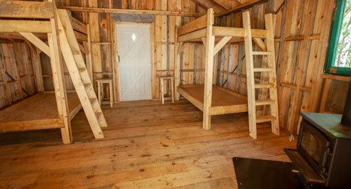
[[[51,32],[50,19],[54,19],[54,10],[50,1],[0,1],[0,38],[28,39],[39,38],[47,40]],[[9,19],[11,18],[11,19]],[[87,41],[87,25],[70,16],[74,34],[78,41]]]

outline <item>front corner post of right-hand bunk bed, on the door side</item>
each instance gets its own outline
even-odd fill
[[[205,56],[205,76],[204,76],[204,115],[202,127],[205,130],[211,129],[210,108],[212,103],[212,82],[213,82],[213,49],[215,47],[215,36],[212,35],[212,25],[214,12],[212,8],[207,10],[206,26],[206,56]]]

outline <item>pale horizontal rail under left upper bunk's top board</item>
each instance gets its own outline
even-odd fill
[[[1,20],[0,32],[50,33],[50,21]]]

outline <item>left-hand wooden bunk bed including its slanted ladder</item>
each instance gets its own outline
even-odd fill
[[[91,62],[85,64],[81,54],[90,54],[87,25],[72,18],[67,10],[58,10],[52,0],[0,1],[0,17],[6,18],[0,19],[0,36],[23,39],[50,57],[54,84],[54,93],[41,86],[34,96],[0,110],[0,133],[60,128],[63,143],[70,144],[70,121],[83,107],[94,136],[103,138],[100,127],[107,124],[90,79]],[[66,92],[61,57],[76,91]],[[36,83],[43,85],[42,79],[36,76]]]

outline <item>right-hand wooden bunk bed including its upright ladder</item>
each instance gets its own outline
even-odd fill
[[[207,14],[190,23],[176,28],[175,41],[175,100],[180,95],[203,111],[203,128],[211,129],[211,115],[247,112],[249,118],[249,135],[256,138],[256,123],[272,122],[272,132],[279,135],[277,111],[277,84],[275,81],[275,54],[273,36],[273,16],[266,14],[266,30],[251,29],[248,12],[243,13],[244,28],[213,26],[214,12],[210,8]],[[267,45],[264,43],[267,38]],[[213,85],[213,56],[226,43],[245,43],[248,97]],[[253,52],[252,41],[255,41],[262,52]],[[204,85],[180,85],[180,53],[185,43],[202,42],[205,46]],[[272,46],[273,44],[273,46]],[[253,55],[268,56],[268,67],[253,67]],[[268,71],[269,82],[255,84],[254,71]],[[270,99],[255,100],[255,89],[270,88]],[[255,106],[271,105],[270,114],[256,117]],[[273,116],[274,115],[274,116]]]

